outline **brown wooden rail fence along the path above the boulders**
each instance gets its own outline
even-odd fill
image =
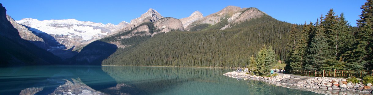
[[[373,76],[373,70],[333,70],[333,71],[305,71],[305,70],[292,70],[289,74],[300,75],[300,76],[317,76],[317,77],[364,77],[364,76]]]

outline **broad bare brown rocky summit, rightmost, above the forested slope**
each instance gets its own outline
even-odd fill
[[[250,7],[250,8],[240,8],[236,6],[227,6],[224,9],[220,10],[219,12],[213,13],[211,15],[208,15],[204,18],[201,18],[199,20],[196,20],[188,25],[188,27],[185,28],[185,30],[189,30],[194,26],[200,25],[200,24],[210,24],[214,25],[216,23],[219,23],[221,21],[227,21],[228,23],[225,23],[226,25],[221,28],[226,29],[230,27],[230,24],[232,23],[241,23],[246,20],[250,20],[252,18],[259,18],[263,15],[267,15],[264,12],[261,12],[260,10]]]

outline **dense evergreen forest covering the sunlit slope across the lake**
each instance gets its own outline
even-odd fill
[[[226,22],[219,22],[226,23]],[[251,19],[219,30],[216,25],[194,28],[200,31],[171,31],[151,38],[133,37],[121,41],[130,47],[118,48],[102,65],[244,67],[263,45],[272,46],[277,59],[285,59],[286,40],[291,24],[270,16]],[[150,28],[151,24],[148,24]],[[154,29],[156,30],[156,29]],[[109,39],[101,39],[108,42]]]

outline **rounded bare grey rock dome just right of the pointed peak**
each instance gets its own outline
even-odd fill
[[[159,32],[169,32],[171,30],[180,30],[184,31],[183,23],[179,19],[167,17],[159,19],[154,23],[156,29],[159,29]]]

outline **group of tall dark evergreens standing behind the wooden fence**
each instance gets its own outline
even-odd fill
[[[373,0],[361,6],[357,27],[351,27],[343,13],[333,9],[321,15],[316,23],[293,25],[287,43],[288,70],[371,70]]]

